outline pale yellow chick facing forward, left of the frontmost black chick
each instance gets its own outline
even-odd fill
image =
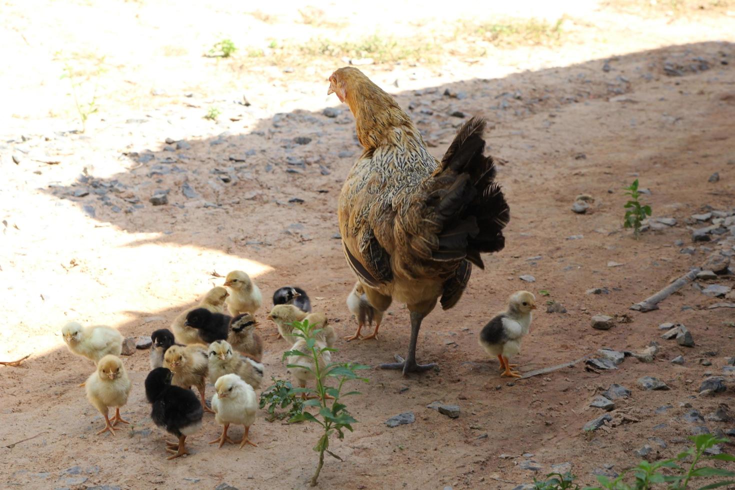
[[[118,422],[130,423],[120,417],[120,407],[128,403],[128,395],[132,387],[120,358],[112,354],[104,356],[97,363],[97,370],[87,378],[85,384],[87,400],[90,400],[90,403],[104,416],[104,429],[97,433],[98,436],[107,431],[114,436],[115,430],[121,430],[115,427]],[[115,417],[112,423],[108,417],[108,410],[111,407],[115,407]]]

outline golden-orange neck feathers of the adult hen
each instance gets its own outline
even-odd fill
[[[396,129],[423,145],[419,131],[390,95],[366,76],[350,76],[346,82],[345,102],[355,117],[357,138],[366,150],[397,143]]]

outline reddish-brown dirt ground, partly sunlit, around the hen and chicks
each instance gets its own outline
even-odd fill
[[[735,356],[735,309],[709,306],[735,299],[696,287],[733,287],[732,268],[687,285],[659,310],[629,307],[713,251],[735,250],[733,228],[692,242],[692,229],[711,222],[690,217],[735,213],[735,7],[516,3],[517,11],[478,14],[462,5],[440,15],[400,1],[379,1],[370,12],[327,1],[247,12],[173,1],[4,2],[0,361],[30,357],[21,367],[0,367],[0,486],[307,486],[315,427],[269,423],[263,411],[251,428],[258,447],[208,446],[220,428],[207,415],[190,438],[193,454],[166,461],[165,434],[151,422],[143,390],[145,350],[123,357],[134,386],[122,413],[132,426],[114,438],[96,436],[103,421],[76,386],[93,365],[69,353],[59,333],[76,320],[149,335],[234,269],[251,273],[264,293],[264,334],[275,331],[265,321],[270,295],[286,284],[306,289],[340,334],[354,331],[345,306],[354,278],[335,234],[337,198],[360,149],[349,110],[326,96],[326,78],[345,60],[279,50],[287,39],[292,46],[376,32],[406,46],[429,33],[449,39],[416,48],[415,59],[360,68],[408,110],[437,157],[466,120],[452,112],[487,117],[494,126],[487,151],[503,160],[498,180],[512,214],[506,248],[474,271],[454,309],[437,309],[424,322],[418,358],[437,361],[440,372],[403,378],[369,370],[370,383],[355,384],[362,395],[347,403],[359,423],[331,445],[343,461],[327,458],[321,488],[511,489],[564,463],[594,483],[595,472],[637,463],[644,444],[653,447],[650,458],[667,458],[686,447],[697,425],[734,428],[681,418],[690,410],[684,403],[705,416],[732,401],[731,372],[727,392],[698,392]],[[523,15],[560,19],[562,34],[496,46],[470,35],[463,21]],[[202,56],[224,37],[240,48],[234,57]],[[60,79],[65,66],[71,78]],[[83,110],[96,94],[84,133],[73,86]],[[334,117],[326,107],[337,109]],[[221,114],[205,119],[212,108]],[[716,172],[719,181],[709,181]],[[653,216],[673,217],[675,226],[639,240],[623,230],[621,188],[634,179],[650,190],[642,200]],[[151,205],[157,190],[169,191],[168,204]],[[578,215],[570,208],[583,193],[595,201]],[[692,253],[681,253],[686,247]],[[604,292],[588,293],[593,288]],[[477,335],[517,289],[567,310],[539,309],[517,359],[521,372],[600,347],[640,351],[651,341],[659,342],[656,359],[628,357],[603,372],[579,363],[508,383]],[[631,321],[599,331],[590,326],[595,314]],[[661,339],[664,322],[684,323],[695,346]],[[375,366],[404,354],[408,340],[407,311],[393,304],[379,340],[340,339],[335,358]],[[287,378],[286,347],[267,340],[268,378]],[[685,363],[671,364],[680,354]],[[670,390],[644,391],[637,380],[645,375]],[[590,401],[611,383],[631,397],[616,400],[614,426],[584,433],[603,414]],[[460,417],[426,408],[437,400],[459,405]],[[385,425],[406,411],[413,424]],[[528,461],[540,469],[527,469]]]

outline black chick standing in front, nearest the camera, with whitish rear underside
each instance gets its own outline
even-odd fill
[[[174,459],[190,454],[186,449],[186,436],[201,429],[201,408],[196,394],[190,389],[171,385],[173,373],[165,367],[157,367],[146,377],[146,398],[151,403],[151,419],[154,424],[165,428],[179,438],[179,442],[166,441],[166,450]]]

